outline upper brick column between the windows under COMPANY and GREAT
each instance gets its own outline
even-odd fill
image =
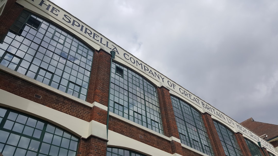
[[[167,137],[173,136],[175,138],[180,139],[169,89],[163,86],[157,88],[157,94],[164,135]]]

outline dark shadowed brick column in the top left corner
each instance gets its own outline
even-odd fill
[[[8,0],[0,16],[0,42],[8,33],[9,28],[13,25],[16,18],[23,10],[23,6],[16,3],[16,0]]]

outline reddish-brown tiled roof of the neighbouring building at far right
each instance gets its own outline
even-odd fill
[[[267,138],[265,138],[265,135],[262,136],[262,138],[265,140],[271,140],[275,137],[278,137],[278,125],[254,121],[252,117],[241,122],[240,124],[259,136],[266,134]]]

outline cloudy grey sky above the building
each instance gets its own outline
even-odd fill
[[[235,121],[278,125],[278,1],[51,1]]]

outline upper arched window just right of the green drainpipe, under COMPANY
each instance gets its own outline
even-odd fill
[[[157,90],[134,71],[112,62],[109,110],[163,134]]]

